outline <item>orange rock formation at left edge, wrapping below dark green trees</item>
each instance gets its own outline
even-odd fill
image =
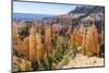
[[[13,24],[13,50],[17,57],[28,59],[28,38],[24,38],[23,40],[20,39],[20,29],[23,27],[21,23]]]

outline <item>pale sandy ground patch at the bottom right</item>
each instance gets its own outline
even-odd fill
[[[75,59],[70,60],[69,64],[63,66],[63,69],[85,66],[104,66],[104,58],[77,54]]]

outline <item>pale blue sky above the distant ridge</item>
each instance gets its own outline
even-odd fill
[[[51,4],[37,2],[13,2],[13,13],[38,13],[38,14],[65,14],[74,10],[76,5]]]

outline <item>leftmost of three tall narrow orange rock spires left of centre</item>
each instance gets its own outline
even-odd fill
[[[36,42],[36,28],[33,25],[29,29],[29,60],[32,63],[37,62],[37,42]]]

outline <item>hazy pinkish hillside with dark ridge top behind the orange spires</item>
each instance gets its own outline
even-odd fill
[[[70,11],[68,14],[57,15],[52,17],[44,17],[43,20],[35,20],[37,24],[57,24],[61,26],[73,27],[84,24],[85,26],[90,26],[93,23],[101,33],[104,29],[104,7],[76,7],[74,10]]]

